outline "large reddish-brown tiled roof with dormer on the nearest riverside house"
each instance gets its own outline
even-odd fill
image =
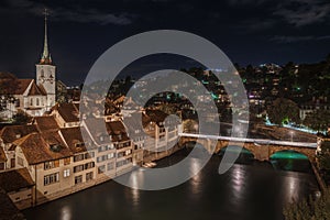
[[[69,148],[65,146],[62,141],[58,141],[58,138],[51,139],[50,135],[55,135],[55,133],[51,132],[43,135],[40,133],[32,133],[16,140],[13,144],[22,148],[30,165],[65,158],[73,155]]]

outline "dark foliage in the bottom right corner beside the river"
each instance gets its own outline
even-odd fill
[[[330,220],[330,189],[320,198],[293,202],[283,211],[286,220]]]

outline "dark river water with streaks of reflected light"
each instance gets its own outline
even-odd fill
[[[158,165],[176,163],[186,154],[183,150]],[[296,166],[300,172],[249,161],[219,175],[220,161],[212,156],[197,176],[172,189],[142,191],[108,182],[23,213],[28,220],[280,220],[285,204],[318,190],[307,161],[290,163],[293,170]]]

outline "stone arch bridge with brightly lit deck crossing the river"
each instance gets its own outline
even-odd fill
[[[179,133],[180,144],[187,142],[197,142],[204,145],[209,152],[219,153],[222,148],[230,145],[242,146],[253,153],[254,157],[260,161],[268,161],[276,152],[295,151],[308,156],[310,161],[315,160],[317,150],[317,140],[315,143],[308,142],[288,142],[265,139],[244,139],[232,136],[217,136],[206,134]],[[216,148],[212,151],[212,147]]]

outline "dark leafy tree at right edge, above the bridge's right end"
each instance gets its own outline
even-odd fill
[[[324,131],[330,125],[330,111],[318,109],[306,116],[304,124],[315,131]]]

